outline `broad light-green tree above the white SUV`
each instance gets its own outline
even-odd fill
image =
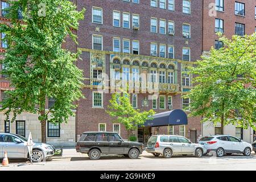
[[[224,47],[212,48],[202,56],[190,73],[195,86],[185,97],[191,99],[190,116],[203,116],[203,122],[221,123],[221,133],[228,123],[255,129],[256,111],[256,34],[220,36]]]

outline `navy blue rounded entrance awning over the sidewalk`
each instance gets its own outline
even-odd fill
[[[187,114],[180,109],[158,113],[153,115],[153,120],[148,120],[144,126],[168,126],[168,125],[188,125]]]

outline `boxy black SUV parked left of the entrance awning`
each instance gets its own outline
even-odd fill
[[[125,142],[113,132],[85,132],[76,144],[76,151],[88,154],[92,160],[100,159],[101,154],[118,154],[137,159],[143,152],[143,144]]]

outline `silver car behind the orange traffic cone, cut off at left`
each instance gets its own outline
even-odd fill
[[[7,152],[10,159],[27,159],[27,139],[16,134],[0,133],[0,159]],[[33,162],[42,162],[43,159],[53,156],[55,148],[46,143],[36,143],[32,147],[31,159]]]

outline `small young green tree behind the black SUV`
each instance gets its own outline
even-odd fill
[[[128,138],[131,130],[136,130],[139,125],[144,125],[155,114],[154,110],[141,111],[134,109],[130,103],[130,94],[126,91],[112,94],[109,102],[110,105],[106,112],[110,117],[113,117],[114,123],[122,123],[125,126],[125,129],[128,131]]]

